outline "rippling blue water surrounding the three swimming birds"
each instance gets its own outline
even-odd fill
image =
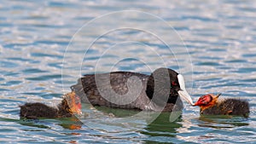
[[[255,143],[255,5],[1,1],[0,142]],[[136,114],[129,111],[102,112],[86,105],[84,124],[70,118],[19,118],[19,105],[26,101],[55,106],[82,74],[148,74],[160,66],[184,75],[193,101],[207,93],[249,101],[249,118],[204,117],[198,107],[186,103],[174,122],[169,121],[170,113],[148,122],[129,120]]]

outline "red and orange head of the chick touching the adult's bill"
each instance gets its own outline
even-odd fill
[[[198,99],[198,101],[195,102],[194,106],[201,107],[201,110],[207,109],[208,107],[212,107],[216,104],[219,95],[221,95],[221,94],[218,94],[218,95],[212,95],[212,94],[202,95]]]

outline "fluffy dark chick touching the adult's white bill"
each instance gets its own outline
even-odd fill
[[[240,115],[248,117],[249,104],[239,99],[218,99],[218,95],[202,95],[195,106],[201,108],[201,114],[205,115]]]

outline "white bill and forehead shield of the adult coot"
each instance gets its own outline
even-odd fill
[[[178,95],[180,95],[180,97],[181,97],[184,101],[189,102],[189,104],[190,104],[191,106],[194,106],[194,103],[193,103],[193,101],[192,101],[192,99],[191,99],[191,96],[189,95],[189,93],[188,93],[187,90],[186,90],[183,75],[178,74],[178,75],[177,75],[177,80],[178,80],[178,84],[179,84],[179,86],[180,86],[180,90],[177,91]]]

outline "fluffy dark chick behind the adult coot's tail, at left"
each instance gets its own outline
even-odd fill
[[[74,92],[64,95],[57,107],[49,107],[39,102],[20,106],[20,118],[69,118],[80,113],[80,99]]]

